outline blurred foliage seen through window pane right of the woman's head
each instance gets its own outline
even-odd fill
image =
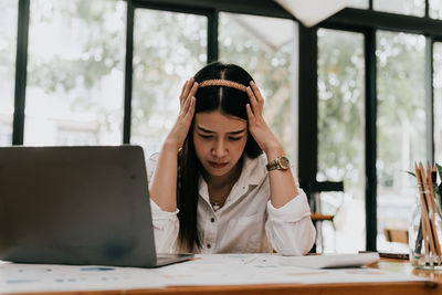
[[[220,13],[220,60],[246,69],[265,99],[264,117],[283,141],[291,155],[294,130],[292,128],[292,73],[293,44],[274,50],[259,42],[228,13]]]

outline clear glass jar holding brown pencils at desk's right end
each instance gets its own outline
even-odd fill
[[[442,270],[442,215],[438,193],[419,188],[409,228],[411,264],[421,270]]]

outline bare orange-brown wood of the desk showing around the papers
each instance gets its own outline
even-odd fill
[[[399,272],[403,274],[414,274],[430,277],[431,282],[407,282],[407,283],[351,283],[351,284],[276,284],[276,285],[249,285],[249,286],[204,286],[204,287],[167,287],[162,289],[131,289],[131,291],[103,291],[103,292],[70,292],[51,293],[63,295],[112,295],[112,294],[261,294],[261,295],[288,295],[288,294],[357,294],[357,295],[420,295],[420,294],[442,294],[442,272],[434,273],[429,271],[417,271],[408,261],[382,259],[379,263],[370,267]],[[29,295],[29,294],[28,294]]]

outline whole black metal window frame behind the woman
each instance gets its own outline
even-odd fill
[[[30,1],[19,0],[15,92],[12,145],[23,145],[24,106],[27,88],[28,35]],[[131,57],[135,9],[156,9],[206,15],[208,18],[208,61],[218,59],[218,15],[219,12],[244,13],[261,17],[283,18],[297,21],[292,14],[272,0],[126,0],[126,65],[124,81],[124,126],[122,144],[130,143],[131,113]],[[433,140],[433,87],[432,49],[434,42],[442,42],[442,20],[429,17],[429,0],[425,0],[425,15],[412,17],[373,11],[372,0],[369,9],[346,8],[322,23],[305,28],[299,23],[299,74],[298,74],[298,176],[307,193],[324,190],[343,190],[341,182],[316,181],[317,173],[317,29],[360,32],[365,36],[366,66],[366,250],[376,251],[377,235],[377,176],[376,176],[376,32],[377,30],[422,34],[427,38],[425,55],[425,99],[427,152],[434,157]]]

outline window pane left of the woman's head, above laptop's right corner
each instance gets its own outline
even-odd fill
[[[159,151],[175,124],[183,83],[207,62],[207,22],[193,14],[135,11],[130,143],[147,156]]]

